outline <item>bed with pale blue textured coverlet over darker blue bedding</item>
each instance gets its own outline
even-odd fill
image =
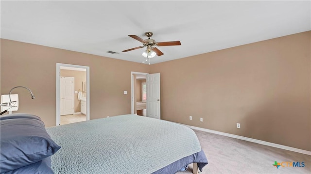
[[[6,120],[22,119],[24,123],[32,117],[15,115]],[[2,170],[2,122],[1,173],[14,174],[24,167],[49,162],[51,165],[45,167],[50,167],[47,171],[51,174],[174,174],[190,163],[193,173],[197,173],[208,163],[190,128],[154,118],[121,115],[45,128],[52,152],[41,160],[27,161],[26,166]]]

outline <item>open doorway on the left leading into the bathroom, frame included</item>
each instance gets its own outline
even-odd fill
[[[64,84],[67,82],[64,80],[66,77],[73,79],[72,89],[70,85]],[[89,67],[56,63],[56,125],[89,120],[88,89]],[[70,95],[71,101],[66,100]],[[64,112],[64,110],[71,110],[71,112]]]

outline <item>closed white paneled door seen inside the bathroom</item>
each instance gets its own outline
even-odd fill
[[[74,77],[60,77],[60,115],[73,114]]]

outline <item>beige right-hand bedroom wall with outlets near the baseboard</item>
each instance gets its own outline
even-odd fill
[[[310,42],[309,31],[153,65],[161,119],[310,151]]]

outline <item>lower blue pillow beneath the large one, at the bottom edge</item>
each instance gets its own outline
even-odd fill
[[[54,174],[51,169],[51,157],[3,174]]]

